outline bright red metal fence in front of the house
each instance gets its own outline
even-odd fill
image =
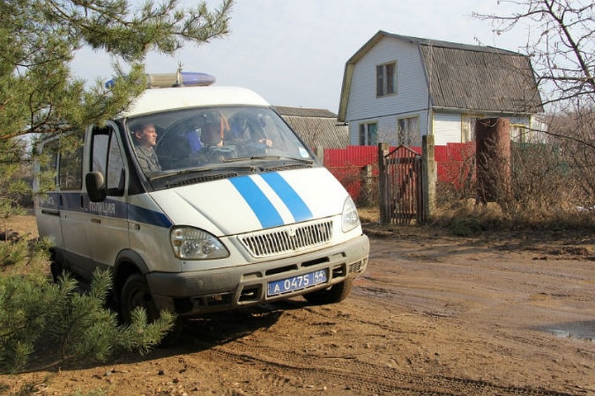
[[[395,147],[391,147],[394,150]],[[421,154],[421,147],[412,148]],[[437,179],[454,188],[475,180],[475,142],[434,146]],[[344,185],[356,201],[370,178],[378,177],[377,146],[325,148],[324,165]]]

